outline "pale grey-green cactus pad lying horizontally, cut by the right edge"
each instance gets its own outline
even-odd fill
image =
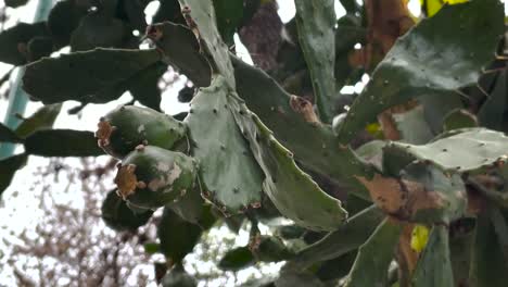
[[[443,171],[480,173],[508,160],[508,137],[485,128],[456,129],[447,137],[423,146],[391,142],[383,160],[403,158],[401,166],[412,160],[427,161]]]

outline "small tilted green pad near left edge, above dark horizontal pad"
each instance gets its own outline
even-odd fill
[[[61,103],[45,105],[25,118],[14,133],[21,138],[26,138],[36,130],[51,128],[60,110],[62,110]]]

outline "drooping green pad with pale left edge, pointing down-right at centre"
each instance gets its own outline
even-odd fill
[[[304,173],[259,118],[242,104],[233,101],[234,117],[242,134],[251,144],[257,162],[265,172],[263,190],[284,216],[313,230],[334,230],[344,223],[347,212],[339,200],[322,191]]]

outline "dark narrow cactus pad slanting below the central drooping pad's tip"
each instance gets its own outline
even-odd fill
[[[355,250],[370,237],[383,219],[383,212],[372,205],[351,217],[347,223],[329,233],[321,240],[301,250],[294,261],[300,265],[308,266]]]

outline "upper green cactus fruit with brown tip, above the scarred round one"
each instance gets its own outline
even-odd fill
[[[185,135],[185,125],[172,116],[134,105],[124,105],[106,114],[96,133],[99,146],[118,159],[141,144],[172,149]]]

